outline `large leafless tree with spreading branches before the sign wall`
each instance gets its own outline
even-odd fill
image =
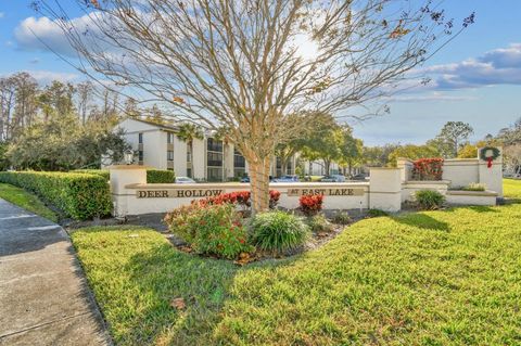
[[[255,212],[268,207],[270,157],[308,121],[288,114],[347,110],[389,94],[473,22],[455,29],[432,1],[77,0],[37,1],[89,66],[143,90],[180,118],[226,128],[245,156]],[[305,114],[305,113],[304,113]]]

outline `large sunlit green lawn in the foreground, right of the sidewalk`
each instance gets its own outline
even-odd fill
[[[143,228],[72,239],[117,345],[519,345],[520,219],[521,204],[366,219],[242,268]]]

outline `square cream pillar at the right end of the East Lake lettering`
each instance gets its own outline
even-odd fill
[[[369,171],[369,207],[385,212],[402,209],[402,169],[373,167]]]

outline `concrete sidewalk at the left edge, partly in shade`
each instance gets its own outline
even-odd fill
[[[112,345],[66,232],[1,198],[0,345]]]

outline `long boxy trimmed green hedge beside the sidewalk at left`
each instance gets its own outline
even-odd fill
[[[100,175],[59,171],[1,171],[0,182],[31,191],[66,216],[86,220],[111,214],[107,179]]]

